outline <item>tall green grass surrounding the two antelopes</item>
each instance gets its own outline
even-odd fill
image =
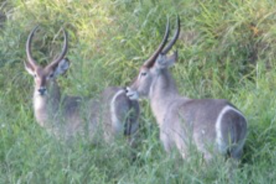
[[[2,0],[0,2],[0,183],[275,183],[276,2],[274,0]],[[64,93],[97,98],[125,86],[155,50],[166,17],[181,18],[172,68],[181,94],[226,98],[249,127],[241,164],[202,164],[200,155],[166,155],[148,102],[142,101],[141,138],[68,145],[47,134],[32,109],[33,79],[24,69],[25,43],[35,25],[34,56],[46,64],[60,52],[59,29],[70,37]],[[137,159],[130,154],[135,151]]]

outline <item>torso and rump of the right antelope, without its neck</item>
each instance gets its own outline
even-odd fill
[[[226,113],[222,112],[225,108],[229,108]],[[244,116],[224,99],[181,99],[171,105],[167,114],[166,123],[170,125],[164,127],[173,129],[171,137],[181,149],[185,149],[188,139],[192,138],[197,148],[206,154],[206,146],[220,148],[223,142],[224,150],[219,151],[225,154],[231,143],[245,138]],[[223,125],[221,129],[218,128],[220,122]],[[227,136],[233,141],[228,143]]]

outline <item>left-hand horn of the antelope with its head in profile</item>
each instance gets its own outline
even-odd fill
[[[168,18],[167,26],[166,26],[166,32],[165,32],[165,35],[163,37],[163,40],[162,40],[161,44],[159,45],[157,50],[155,50],[155,52],[152,54],[152,56],[148,60],[146,60],[146,62],[144,63],[144,66],[146,66],[147,68],[150,68],[150,67],[153,66],[157,56],[162,51],[162,49],[164,48],[164,46],[166,45],[166,43],[168,41],[169,32],[170,32],[170,20]]]

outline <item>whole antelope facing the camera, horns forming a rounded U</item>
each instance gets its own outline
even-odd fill
[[[61,54],[41,67],[31,53],[31,42],[37,28],[31,31],[26,43],[28,61],[25,68],[34,77],[34,114],[39,125],[66,140],[85,133],[92,138],[99,132],[106,140],[123,134],[131,138],[139,127],[138,102],[129,100],[125,89],[120,87],[108,87],[99,100],[62,96],[56,77],[69,68],[69,60],[64,58],[68,50],[67,33],[62,29],[64,44]]]

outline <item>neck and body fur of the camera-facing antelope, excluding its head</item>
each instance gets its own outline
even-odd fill
[[[129,100],[123,88],[108,87],[99,100],[89,100],[61,96],[55,78],[47,80],[46,84],[44,95],[37,92],[39,86],[35,87],[34,113],[38,123],[58,137],[87,133],[92,138],[101,129],[105,139],[111,140],[115,135],[124,135],[124,131],[128,131],[125,126],[132,127],[128,135],[138,130],[139,104]]]

